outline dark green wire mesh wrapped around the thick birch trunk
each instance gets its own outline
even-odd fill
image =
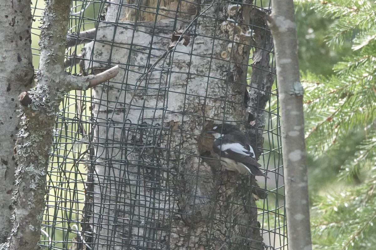
[[[34,65],[43,8],[32,5]],[[257,0],[72,1],[67,72],[123,73],[61,104],[41,247],[288,249],[268,12]],[[245,128],[270,180],[217,163],[203,132],[223,122]]]

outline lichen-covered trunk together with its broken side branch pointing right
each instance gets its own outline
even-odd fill
[[[9,59],[12,59],[10,61],[14,63],[13,59],[16,58],[21,64],[25,58],[25,69],[20,69],[17,74],[14,74],[13,71],[13,74],[19,77],[18,81],[27,80],[27,86],[32,79],[33,70],[30,73],[31,54],[29,53],[31,48],[30,32],[28,31],[31,16],[30,12],[24,12],[24,10],[30,10],[30,2],[26,1],[26,3],[27,6],[23,6],[21,10],[18,9],[19,12],[17,15],[15,14],[14,18],[13,15],[9,17],[12,19],[9,25],[18,25],[18,18],[20,24],[22,24],[23,19],[27,20],[27,25],[22,28],[18,27],[25,34],[26,42],[25,37],[21,39],[20,36],[18,39],[21,44],[27,43],[29,47],[26,48],[26,45],[21,47],[24,48],[25,55],[18,54]],[[13,1],[10,4],[13,4]],[[8,240],[0,246],[0,249],[39,249],[38,241],[41,235],[44,211],[46,172],[52,146],[55,116],[59,111],[59,104],[68,91],[73,89],[85,90],[90,87],[90,84],[98,84],[98,79],[106,81],[109,79],[108,77],[114,76],[114,69],[110,74],[107,74],[107,78],[104,77],[105,72],[100,77],[82,78],[64,72],[64,45],[68,30],[70,4],[70,0],[51,0],[46,3],[39,42],[41,55],[39,72],[35,76],[36,87],[19,96],[23,109],[20,115],[21,129],[18,131],[15,147],[17,170],[15,171],[16,190],[13,197],[15,209],[11,217],[13,227]],[[18,2],[17,7],[20,7]],[[21,34],[21,31],[18,32]],[[14,33],[14,31],[12,32]],[[13,42],[17,43],[18,41]],[[15,46],[13,49],[13,52],[20,51]],[[17,66],[15,65],[15,68]],[[21,75],[19,76],[19,74]],[[7,101],[9,102],[9,100]]]

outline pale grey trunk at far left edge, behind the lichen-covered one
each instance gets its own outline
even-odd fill
[[[18,94],[33,80],[30,1],[0,2],[0,244],[12,229],[16,162],[13,148],[20,127]]]

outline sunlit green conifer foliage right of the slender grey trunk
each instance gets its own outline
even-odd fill
[[[346,51],[332,74],[303,68],[314,248],[375,249],[375,1],[296,2],[297,20],[300,11],[317,13],[326,20],[321,37],[327,48]]]

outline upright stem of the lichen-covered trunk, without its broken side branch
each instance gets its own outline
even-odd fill
[[[42,19],[37,84],[29,93],[32,104],[21,114],[22,127],[15,148],[18,168],[14,226],[4,249],[39,249],[51,138],[55,115],[65,91],[59,87],[65,76],[61,67],[65,47],[60,44],[65,43],[69,11],[70,0],[50,1]]]

